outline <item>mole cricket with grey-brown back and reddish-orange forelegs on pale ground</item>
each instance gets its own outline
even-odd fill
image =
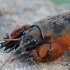
[[[38,63],[57,60],[70,50],[70,12],[43,19],[32,26],[25,25],[4,39],[5,51],[10,49],[7,52],[15,49],[19,56],[32,54]]]

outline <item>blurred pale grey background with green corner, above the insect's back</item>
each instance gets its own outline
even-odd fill
[[[70,0],[0,0],[0,37],[17,27],[70,10]],[[53,13],[53,14],[52,14]],[[10,31],[9,31],[10,29]]]

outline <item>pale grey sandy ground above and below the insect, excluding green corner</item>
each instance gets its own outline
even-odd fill
[[[0,0],[0,39],[22,25],[32,25],[47,16],[68,10],[69,4],[56,7],[49,0]],[[0,67],[10,55],[0,49]],[[12,64],[7,63],[2,70],[70,70],[70,51],[54,62],[36,64],[16,60]]]

